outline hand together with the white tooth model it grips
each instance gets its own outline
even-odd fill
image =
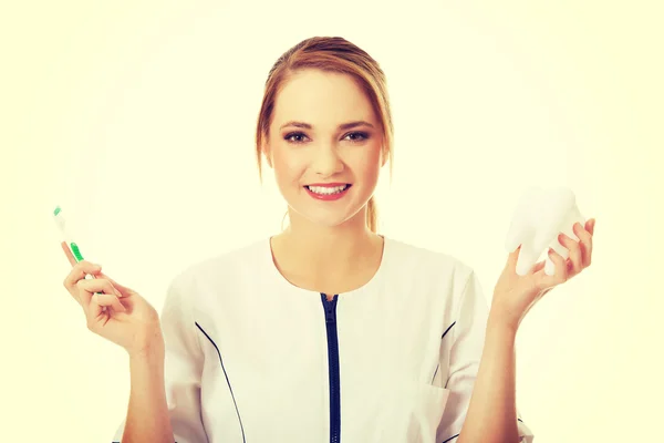
[[[507,234],[509,256],[494,289],[491,320],[516,331],[544,293],[590,266],[593,233],[594,219],[584,222],[572,190],[529,188]]]

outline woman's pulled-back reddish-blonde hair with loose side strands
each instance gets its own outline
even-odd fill
[[[381,122],[383,157],[390,161],[390,176],[392,177],[394,127],[383,70],[366,52],[341,37],[313,37],[286,51],[268,74],[256,127],[256,156],[261,183],[261,164],[264,155],[262,144],[263,140],[269,138],[270,135],[270,124],[272,123],[277,95],[288,80],[303,69],[343,73],[357,81]],[[286,215],[288,215],[288,212]],[[373,196],[366,204],[366,226],[373,233],[376,233],[377,210]]]

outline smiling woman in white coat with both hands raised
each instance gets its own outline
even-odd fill
[[[579,243],[561,238],[567,262],[550,253],[554,276],[542,261],[519,277],[510,254],[489,311],[471,268],[376,233],[392,132],[378,64],[341,38],[304,40],[270,71],[257,126],[286,230],[183,271],[160,321],[63,244],[89,328],[129,354],[116,441],[532,441],[515,404],[515,336],[590,265],[594,222],[574,227]]]

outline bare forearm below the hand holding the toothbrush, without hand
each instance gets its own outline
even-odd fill
[[[129,357],[131,393],[123,443],[173,443],[164,389],[164,344]]]

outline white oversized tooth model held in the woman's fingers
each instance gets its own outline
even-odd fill
[[[517,205],[505,243],[508,253],[513,253],[521,245],[517,275],[528,274],[549,247],[567,259],[569,250],[558,241],[558,235],[563,233],[578,241],[573,231],[577,222],[585,227],[571,189],[531,187],[526,190]],[[554,270],[556,265],[547,254],[544,274],[552,276]]]

